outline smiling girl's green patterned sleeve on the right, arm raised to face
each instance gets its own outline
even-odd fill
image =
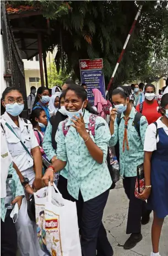
[[[106,161],[107,158],[107,146],[110,140],[110,130],[109,126],[107,125],[107,122],[101,118],[96,118],[96,124],[95,124],[95,144],[97,147],[102,150],[104,154],[103,162]]]

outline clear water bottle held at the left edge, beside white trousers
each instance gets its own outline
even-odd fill
[[[6,209],[13,209],[14,205],[11,205],[11,202],[15,198],[16,185],[15,185],[14,179],[12,179],[12,174],[8,174],[6,186],[7,186],[7,196],[5,198],[4,207]]]

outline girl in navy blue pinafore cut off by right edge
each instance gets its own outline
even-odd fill
[[[161,98],[162,117],[147,128],[144,142],[144,174],[146,188],[140,199],[148,199],[149,209],[154,211],[151,228],[153,252],[160,256],[159,239],[164,218],[168,215],[168,93]]]

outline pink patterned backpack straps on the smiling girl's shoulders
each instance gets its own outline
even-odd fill
[[[94,114],[91,114],[89,117],[89,125],[88,125],[89,133],[91,132],[91,134],[93,136],[95,136],[96,117],[97,117],[97,115],[94,115]],[[69,131],[69,128],[71,127],[71,126],[66,126],[67,122],[68,122],[68,118],[62,122],[62,131],[63,131],[64,136],[67,135],[67,132]]]

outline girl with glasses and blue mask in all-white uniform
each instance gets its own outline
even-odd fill
[[[17,88],[8,87],[2,93],[2,104],[6,111],[1,122],[13,162],[24,177],[21,184],[24,187],[30,184],[38,190],[42,188],[42,158],[30,121],[19,117],[24,109],[23,95]],[[21,256],[45,255],[40,249],[35,225],[28,216],[26,197],[22,200],[15,226]]]

